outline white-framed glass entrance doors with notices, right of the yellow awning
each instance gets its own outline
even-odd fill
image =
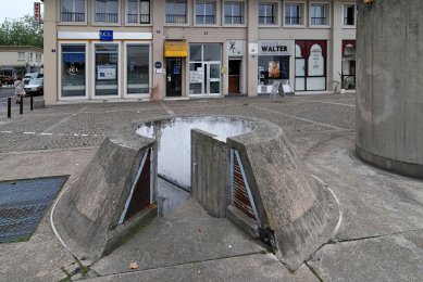
[[[222,44],[189,44],[189,95],[220,95],[222,91]]]

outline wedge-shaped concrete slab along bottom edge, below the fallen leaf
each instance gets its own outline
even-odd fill
[[[297,281],[318,282],[318,278],[301,266],[290,273],[273,255],[246,255],[196,264],[126,272],[88,281]]]

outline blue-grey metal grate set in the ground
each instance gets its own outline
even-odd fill
[[[0,243],[28,240],[66,179],[0,182]]]

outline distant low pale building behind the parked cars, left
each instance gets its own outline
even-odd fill
[[[32,46],[0,46],[0,75],[16,78],[42,72],[42,49]]]

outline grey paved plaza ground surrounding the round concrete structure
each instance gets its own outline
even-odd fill
[[[336,195],[331,241],[287,269],[226,219],[196,202],[158,218],[98,261],[71,255],[48,210],[29,241],[0,244],[0,281],[423,281],[423,181],[354,156],[353,94],[98,102],[28,111],[0,107],[0,181],[75,181],[113,128],[174,115],[257,117],[283,128],[310,174]],[[129,264],[137,267],[129,268]]]

